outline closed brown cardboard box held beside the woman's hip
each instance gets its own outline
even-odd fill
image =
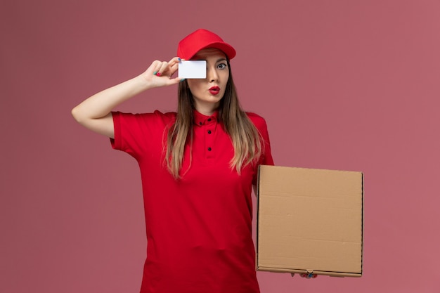
[[[260,166],[257,270],[361,277],[363,173]]]

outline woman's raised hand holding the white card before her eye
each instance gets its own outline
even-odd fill
[[[179,84],[181,79],[179,77],[173,78],[173,75],[179,69],[180,60],[179,57],[174,57],[172,60],[169,60],[169,62],[160,60],[153,61],[150,67],[142,74],[142,77],[150,85],[148,87],[153,88]]]

